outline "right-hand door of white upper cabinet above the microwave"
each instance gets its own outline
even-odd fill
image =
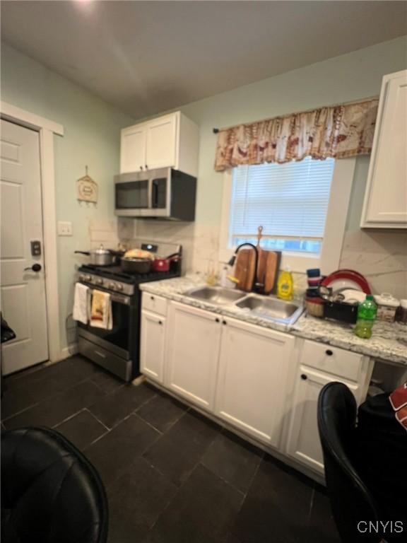
[[[147,123],[146,168],[175,166],[177,115],[165,115]]]

